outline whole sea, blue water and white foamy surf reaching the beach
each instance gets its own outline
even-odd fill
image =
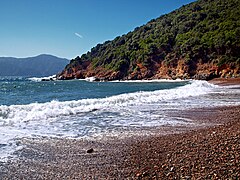
[[[0,161],[22,148],[21,138],[120,138],[192,123],[174,110],[240,105],[240,86],[207,81],[41,80],[0,77]]]

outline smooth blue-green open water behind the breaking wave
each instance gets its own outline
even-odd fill
[[[31,81],[26,77],[0,77],[0,105],[105,98],[123,93],[171,89],[187,83]]]

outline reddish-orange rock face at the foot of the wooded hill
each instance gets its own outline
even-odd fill
[[[138,79],[202,79],[209,80],[215,77],[239,77],[239,67],[230,65],[217,66],[214,63],[188,64],[184,59],[175,59],[171,64],[165,62],[148,64],[142,63],[135,65],[134,70],[131,67],[120,71],[113,71],[98,66],[94,68],[90,61],[82,62],[72,66],[71,64],[58,75],[58,79],[84,79],[95,77],[96,80],[138,80]]]

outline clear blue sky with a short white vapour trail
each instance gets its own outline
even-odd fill
[[[0,57],[73,59],[194,0],[0,0]]]

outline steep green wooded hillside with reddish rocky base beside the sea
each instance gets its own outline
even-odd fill
[[[240,76],[240,1],[198,0],[71,60],[59,79]]]

